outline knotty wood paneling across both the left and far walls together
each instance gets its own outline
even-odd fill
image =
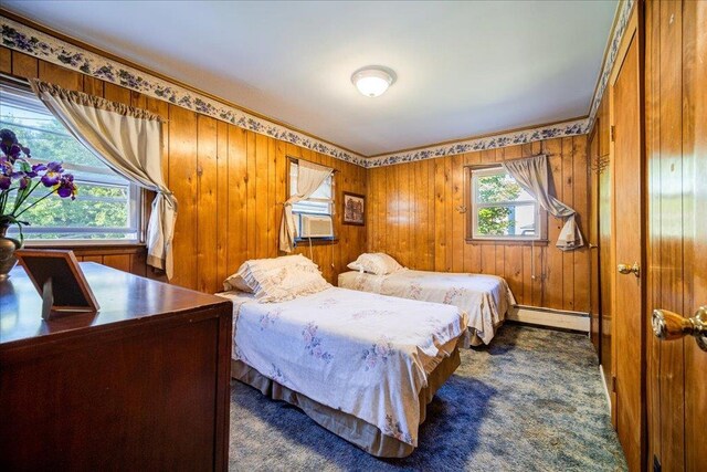
[[[466,204],[465,165],[548,153],[556,192],[579,212],[578,221],[587,235],[585,136],[366,170],[6,48],[0,48],[0,71],[147,108],[167,120],[162,170],[179,200],[172,283],[215,292],[244,260],[278,255],[286,156],[293,156],[338,170],[338,242],[312,248],[315,262],[331,283],[348,262],[368,249],[388,252],[413,269],[504,276],[524,305],[589,311],[588,250],[562,252],[555,248],[561,220],[549,217],[549,243],[531,250],[520,244],[467,243],[466,217],[456,210]],[[341,224],[344,191],[368,196],[366,227]],[[87,260],[101,259],[117,269],[155,275],[143,266],[144,256],[133,250],[96,251],[92,250]],[[300,247],[296,252],[309,255],[309,248]]]

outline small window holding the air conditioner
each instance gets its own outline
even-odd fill
[[[298,165],[297,160],[289,159],[289,196],[292,197],[297,192],[297,175],[298,175]],[[321,219],[316,219],[317,230],[310,229],[314,234],[326,234],[326,235],[313,235],[312,238],[317,239],[331,239],[334,238],[334,222],[331,220],[331,216],[334,214],[334,174],[331,174],[327,179],[319,186],[317,190],[315,190],[312,196],[306,199],[298,201],[292,206],[292,211],[295,216],[295,224],[297,228],[298,238],[303,234],[303,223],[305,228],[312,228],[312,225],[306,224],[303,221],[303,216],[314,216],[314,217],[328,217],[328,221],[321,221]],[[312,219],[310,219],[312,220]],[[306,232],[306,231],[305,231]]]

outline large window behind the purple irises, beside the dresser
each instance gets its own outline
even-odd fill
[[[25,240],[140,239],[140,189],[78,143],[30,91],[2,84],[0,126],[32,151],[31,164],[59,161],[74,175],[76,200],[48,198],[27,211]],[[38,190],[28,200],[36,201]],[[10,230],[17,237],[17,229]]]

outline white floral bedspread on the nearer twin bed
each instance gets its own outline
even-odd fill
[[[235,359],[415,447],[420,390],[466,336],[466,315],[436,303],[338,287],[282,303],[219,295],[233,301]]]

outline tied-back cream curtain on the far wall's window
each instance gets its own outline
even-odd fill
[[[556,218],[567,218],[557,247],[572,251],[584,245],[582,233],[574,221],[577,212],[549,192],[550,166],[545,155],[509,160],[502,166],[538,203]]]

